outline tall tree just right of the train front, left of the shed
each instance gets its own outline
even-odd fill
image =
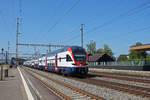
[[[96,43],[95,41],[91,40],[87,46],[87,52],[88,54],[94,54],[96,52]]]

